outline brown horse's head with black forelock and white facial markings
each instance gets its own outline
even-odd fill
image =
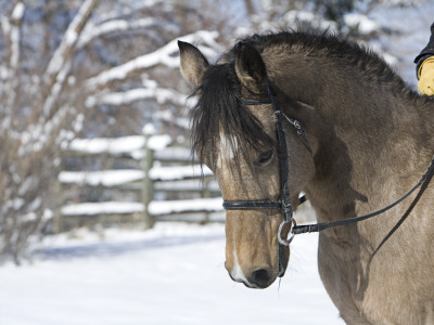
[[[311,107],[292,100],[272,83],[273,76],[267,72],[267,64],[272,62],[266,63],[252,44],[237,44],[215,65],[192,44],[179,42],[179,48],[182,75],[197,95],[191,112],[193,150],[214,171],[225,202],[281,202],[279,155],[288,155],[285,181],[289,199],[296,208],[298,194],[314,174],[314,158],[297,130],[286,123],[288,151],[283,153],[279,147],[272,101],[307,127],[315,151],[316,141],[308,126]],[[226,269],[233,281],[265,288],[284,274],[290,249],[278,242],[281,223],[282,211],[277,208],[227,211]],[[282,235],[289,231],[286,224]]]

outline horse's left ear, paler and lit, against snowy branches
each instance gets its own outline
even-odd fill
[[[201,84],[209,63],[199,49],[190,43],[178,41],[183,78],[193,87]]]

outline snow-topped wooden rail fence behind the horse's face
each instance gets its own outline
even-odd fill
[[[190,148],[174,145],[167,135],[76,139],[65,155],[75,159],[110,158],[135,168],[60,172],[63,203],[54,221],[56,232],[77,223],[104,223],[119,218],[141,222],[146,229],[159,219],[174,220],[174,216],[207,222],[217,212],[221,220],[222,200],[210,170],[192,165]],[[78,200],[77,192],[87,188],[98,188],[105,196],[107,192],[116,193],[117,199],[105,200],[104,195],[97,195],[92,202]],[[73,195],[68,195],[71,191]],[[118,199],[124,196],[129,199]]]

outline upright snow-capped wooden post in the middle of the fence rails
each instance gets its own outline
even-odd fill
[[[154,151],[149,146],[149,140],[155,133],[152,125],[146,125],[143,128],[144,133],[144,158],[142,160],[143,181],[142,181],[142,203],[143,203],[143,222],[144,229],[153,227],[155,219],[149,212],[149,205],[154,198],[154,185],[150,178],[150,171],[154,161]]]

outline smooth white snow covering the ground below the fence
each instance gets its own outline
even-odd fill
[[[48,238],[30,264],[0,269],[0,323],[344,324],[318,276],[317,242],[297,236],[280,284],[255,290],[225,270],[222,224]]]

